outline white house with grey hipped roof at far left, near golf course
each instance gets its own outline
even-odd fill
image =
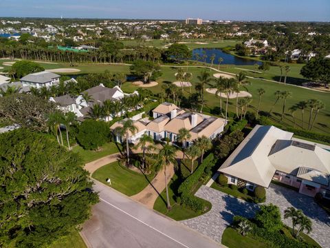
[[[23,76],[20,81],[23,86],[40,88],[58,84],[60,82],[60,77],[60,75],[52,72],[36,72]]]

